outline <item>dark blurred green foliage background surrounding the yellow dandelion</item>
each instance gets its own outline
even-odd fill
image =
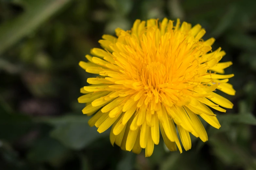
[[[1,170],[256,170],[255,0],[0,0]],[[112,147],[82,115],[79,88],[94,76],[78,66],[103,34],[135,19],[180,18],[215,37],[232,61],[234,103],[205,124],[209,141],[151,157]]]

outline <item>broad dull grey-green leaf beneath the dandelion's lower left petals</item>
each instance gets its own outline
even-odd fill
[[[107,132],[99,134],[96,127],[90,127],[87,123],[89,119],[86,115],[82,115],[47,120],[55,126],[50,135],[71,149],[87,147],[96,139],[108,135]]]

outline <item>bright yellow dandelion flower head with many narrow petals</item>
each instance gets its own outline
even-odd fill
[[[159,143],[159,129],[171,151],[177,145],[182,152],[176,126],[185,150],[191,148],[189,133],[207,141],[198,116],[220,128],[208,106],[226,112],[222,107],[233,104],[215,91],[235,94],[227,83],[234,75],[220,75],[232,63],[219,63],[225,52],[212,51],[215,39],[203,41],[205,30],[199,24],[191,28],[178,19],[174,26],[166,18],[136,20],[131,30],[115,32],[117,37],[103,35],[99,40],[104,50],[92,49],[93,57],[86,55],[88,62],[79,63],[99,75],[87,79],[92,85],[81,88],[84,95],[78,98],[86,103],[84,114],[95,113],[89,125],[99,133],[112,126],[112,145],[137,154],[145,148],[146,157]]]

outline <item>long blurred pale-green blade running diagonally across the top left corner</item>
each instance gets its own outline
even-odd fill
[[[24,1],[25,12],[0,25],[0,54],[24,36],[34,31],[71,0]]]

